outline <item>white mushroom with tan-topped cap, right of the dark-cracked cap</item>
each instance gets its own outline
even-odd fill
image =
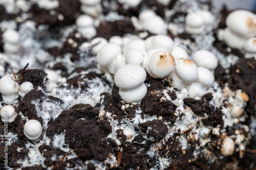
[[[175,70],[168,76],[170,85],[178,90],[183,89],[188,83],[193,83],[198,79],[198,68],[194,61],[189,59],[179,59],[176,61]]]

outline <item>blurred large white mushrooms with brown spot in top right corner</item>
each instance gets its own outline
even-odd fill
[[[254,53],[253,40],[247,40],[256,35],[256,16],[247,10],[236,10],[226,18],[226,28],[219,30],[218,38],[223,40],[229,47]],[[246,57],[252,57],[246,55]]]

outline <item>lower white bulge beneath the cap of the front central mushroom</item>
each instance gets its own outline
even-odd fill
[[[132,90],[119,89],[119,94],[125,103],[133,103],[141,101],[146,95],[147,88],[144,83]]]

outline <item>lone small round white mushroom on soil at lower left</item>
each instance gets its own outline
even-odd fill
[[[37,139],[42,133],[42,126],[38,120],[28,120],[24,125],[24,134],[30,140]]]

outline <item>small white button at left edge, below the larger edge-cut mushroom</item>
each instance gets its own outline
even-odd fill
[[[7,121],[8,123],[12,123],[17,116],[14,107],[10,105],[2,107],[0,110],[0,114],[2,117],[2,122]]]

